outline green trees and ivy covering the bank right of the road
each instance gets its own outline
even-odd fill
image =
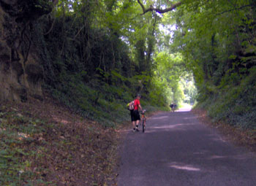
[[[255,4],[187,0],[172,15],[172,48],[193,72],[199,105],[215,121],[255,128]]]

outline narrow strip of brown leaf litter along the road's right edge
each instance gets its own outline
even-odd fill
[[[237,128],[227,123],[212,123],[211,119],[207,117],[206,111],[203,109],[192,109],[192,112],[197,115],[198,119],[203,121],[203,123],[218,128],[227,140],[256,152],[256,131],[243,130],[242,128]]]

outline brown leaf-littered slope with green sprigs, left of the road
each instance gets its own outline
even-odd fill
[[[0,138],[0,185],[115,185],[116,131],[47,96],[2,102]]]

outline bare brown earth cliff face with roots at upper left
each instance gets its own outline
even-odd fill
[[[0,1],[0,101],[42,99],[42,56],[36,21],[57,1]]]

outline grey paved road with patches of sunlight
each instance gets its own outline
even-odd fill
[[[255,186],[256,155],[225,142],[191,112],[148,119],[146,133],[128,131],[118,186]]]

